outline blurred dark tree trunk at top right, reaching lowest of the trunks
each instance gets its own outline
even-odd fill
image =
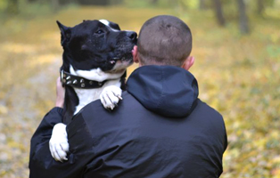
[[[246,14],[246,6],[243,0],[237,0],[239,10],[239,26],[242,34],[248,34],[250,32],[248,25],[248,17]]]

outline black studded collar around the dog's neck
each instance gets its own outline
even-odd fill
[[[88,80],[84,77],[78,77],[61,70],[61,81],[62,85],[70,85],[74,88],[83,88],[83,89],[93,89],[101,88],[108,80],[103,82],[97,82],[95,80]]]

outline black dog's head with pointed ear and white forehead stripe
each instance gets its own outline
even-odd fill
[[[118,72],[133,63],[136,32],[121,31],[108,20],[84,20],[73,28],[57,24],[62,34],[63,65],[75,70]]]

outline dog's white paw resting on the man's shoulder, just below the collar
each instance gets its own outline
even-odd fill
[[[105,109],[114,109],[118,106],[119,100],[122,100],[121,89],[115,85],[105,87],[100,94],[100,100]]]

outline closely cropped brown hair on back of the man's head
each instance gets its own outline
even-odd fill
[[[191,29],[183,20],[174,16],[153,17],[142,26],[137,49],[144,65],[180,67],[192,51]]]

